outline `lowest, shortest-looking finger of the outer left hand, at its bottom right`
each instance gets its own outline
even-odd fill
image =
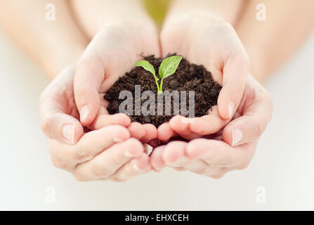
[[[121,168],[112,174],[109,179],[112,181],[126,181],[131,179],[133,176],[139,174],[145,174],[150,170],[150,158],[148,155],[143,153],[139,158],[133,159],[130,162],[127,162],[126,165],[123,165]]]

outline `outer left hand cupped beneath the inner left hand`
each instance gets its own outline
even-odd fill
[[[53,165],[79,181],[125,181],[150,170],[143,144],[119,125],[84,133],[73,93],[74,67],[56,77],[41,94],[41,127],[49,139]]]

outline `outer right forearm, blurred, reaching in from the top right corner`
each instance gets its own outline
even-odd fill
[[[265,4],[266,21],[256,20],[256,6]],[[263,81],[306,39],[314,25],[313,0],[252,0],[237,26],[251,60],[251,72]]]

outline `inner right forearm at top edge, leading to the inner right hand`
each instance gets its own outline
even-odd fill
[[[220,18],[235,26],[244,4],[244,0],[174,0],[169,8],[168,17],[192,13]]]

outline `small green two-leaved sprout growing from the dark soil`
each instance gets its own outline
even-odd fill
[[[162,79],[160,84],[158,83],[159,78],[156,76],[155,68],[150,64],[147,60],[140,60],[135,63],[136,66],[141,66],[144,70],[151,72],[155,78],[155,82],[157,85],[158,94],[162,94],[162,84],[166,77],[169,77],[176,72],[179,63],[181,62],[182,56],[170,56],[162,60],[162,64],[159,66],[159,77]]]

